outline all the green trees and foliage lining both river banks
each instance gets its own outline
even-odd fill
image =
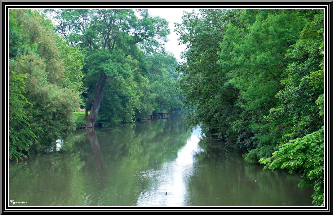
[[[50,18],[54,20],[52,23]],[[9,10],[9,156],[25,159],[76,129],[188,111],[188,129],[249,162],[303,173],[324,204],[323,10],[199,10],[176,23],[148,10]]]

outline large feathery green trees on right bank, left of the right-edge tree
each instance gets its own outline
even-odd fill
[[[288,48],[316,12],[298,10],[200,10],[177,24],[183,54],[179,86],[185,95],[188,127],[244,147],[249,159],[269,157],[288,132],[268,121],[279,104],[275,95],[292,59]],[[216,46],[219,44],[219,46]],[[238,141],[236,138],[238,137]]]

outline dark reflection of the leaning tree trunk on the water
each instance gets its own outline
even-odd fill
[[[83,170],[86,170],[91,156],[94,156],[96,169],[97,168],[104,169],[104,163],[103,163],[102,154],[101,154],[101,147],[98,142],[98,138],[97,138],[94,128],[87,128],[86,138],[90,141],[91,153],[89,154],[89,156],[86,160],[86,164],[84,165]]]

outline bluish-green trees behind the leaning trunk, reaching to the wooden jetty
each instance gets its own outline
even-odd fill
[[[131,73],[107,83],[96,123],[110,126],[134,122],[153,112],[171,113],[181,108],[175,85],[176,59],[164,52],[143,55],[139,48],[133,50]]]

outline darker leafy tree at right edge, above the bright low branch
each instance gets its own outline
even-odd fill
[[[283,120],[291,127],[284,135],[285,141],[312,133],[323,124],[323,40],[323,17],[319,14],[287,50],[286,58],[294,62],[285,70],[288,76],[281,80],[284,89],[276,94],[280,104],[267,117],[270,121]]]

